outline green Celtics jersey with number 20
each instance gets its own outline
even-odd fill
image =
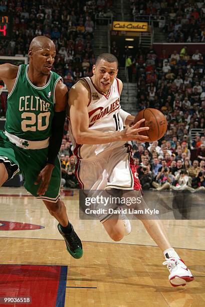
[[[5,129],[23,139],[43,140],[51,136],[55,87],[61,77],[51,71],[47,84],[37,87],[29,80],[28,68],[29,65],[20,65],[8,95]]]

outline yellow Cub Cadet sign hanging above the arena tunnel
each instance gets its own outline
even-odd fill
[[[113,31],[132,31],[132,32],[147,32],[148,23],[136,23],[136,22],[113,22]]]

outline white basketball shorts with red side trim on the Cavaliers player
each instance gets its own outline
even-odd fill
[[[78,161],[76,177],[80,188],[82,190],[107,190],[107,192],[110,189],[138,190],[141,195],[141,185],[131,158],[131,149],[131,145],[125,144],[100,154],[99,159],[92,162]],[[110,204],[110,208],[115,210],[116,204]],[[100,214],[97,217],[104,222],[110,215]]]

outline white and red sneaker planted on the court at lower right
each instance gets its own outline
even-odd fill
[[[166,265],[170,274],[169,281],[173,287],[178,287],[179,285],[186,285],[186,282],[192,281],[194,277],[192,276],[190,270],[187,268],[183,260],[177,258],[166,258],[163,262]]]

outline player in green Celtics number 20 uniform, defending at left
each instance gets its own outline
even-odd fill
[[[69,223],[60,200],[61,167],[58,152],[68,101],[62,78],[52,72],[54,43],[45,36],[33,39],[29,65],[0,65],[0,79],[8,88],[5,131],[0,131],[0,186],[19,171],[25,188],[42,199],[59,224],[67,250],[74,258],[83,255],[82,243]]]

